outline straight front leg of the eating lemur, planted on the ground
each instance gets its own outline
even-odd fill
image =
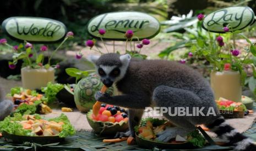
[[[143,113],[144,109],[128,109],[129,131],[117,132],[115,138],[127,136],[135,137],[134,126],[139,125]]]

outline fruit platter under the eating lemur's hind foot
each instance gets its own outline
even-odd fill
[[[176,138],[171,139],[169,142],[157,140],[156,136],[170,127],[175,127],[175,125],[165,119],[142,119],[140,125],[134,128],[136,132],[135,140],[139,146],[148,149],[152,149],[155,146],[168,149],[191,149],[204,146],[205,139],[198,130],[188,133],[187,136],[177,135]]]

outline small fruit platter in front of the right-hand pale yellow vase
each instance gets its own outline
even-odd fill
[[[226,119],[243,118],[244,115],[253,113],[253,111],[248,110],[242,102],[234,102],[231,100],[226,100],[222,97],[215,102],[219,108],[220,114],[222,114],[222,116]]]

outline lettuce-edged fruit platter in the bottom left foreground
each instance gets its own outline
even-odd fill
[[[43,119],[39,114],[21,115],[15,113],[0,122],[0,131],[7,142],[34,142],[40,144],[63,141],[75,133],[67,116]]]

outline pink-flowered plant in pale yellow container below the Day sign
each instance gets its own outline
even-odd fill
[[[199,14],[198,19],[203,21],[204,15]],[[198,22],[198,24],[200,25],[202,22]],[[204,32],[208,33],[208,37],[205,36],[206,34],[201,34]],[[241,30],[233,31],[228,24],[223,27],[223,34],[211,33],[198,26],[198,33],[201,36],[188,44],[190,51],[186,55],[187,57],[203,57],[210,62],[211,88],[216,100],[223,97],[227,100],[241,102],[242,86],[247,77],[243,67],[253,63],[248,56],[256,50],[255,46],[241,32]],[[245,49],[245,54],[242,54],[242,51],[237,48],[237,36],[246,38],[250,43],[249,47]],[[181,63],[185,62],[186,59],[181,60]]]

